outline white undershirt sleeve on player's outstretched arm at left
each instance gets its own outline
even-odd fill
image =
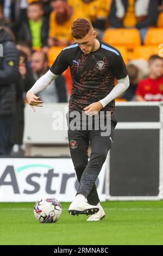
[[[48,70],[45,75],[41,76],[33,85],[33,87],[28,91],[33,94],[40,93],[42,90],[46,89],[49,84],[57,78],[58,75],[54,75],[51,70]]]

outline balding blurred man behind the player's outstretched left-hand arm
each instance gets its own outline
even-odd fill
[[[32,55],[32,71],[37,81],[49,69],[48,59],[43,52],[34,52]],[[57,77],[50,86],[39,95],[44,103],[67,102],[67,91],[64,76]]]

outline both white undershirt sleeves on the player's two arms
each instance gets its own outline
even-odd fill
[[[46,89],[49,86],[49,84],[57,77],[58,75],[55,75],[51,70],[48,70],[45,75],[41,76],[35,82],[33,87],[28,92],[32,92],[33,94],[41,92],[42,90]],[[123,92],[125,92],[130,84],[128,76],[122,78],[121,80],[117,80],[117,82],[117,85],[111,90],[111,92],[102,100],[100,100],[103,107],[105,107],[109,102],[111,102],[116,97],[120,96]]]

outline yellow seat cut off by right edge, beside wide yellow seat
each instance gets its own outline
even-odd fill
[[[163,42],[163,28],[149,28],[145,38],[145,45],[159,46]]]

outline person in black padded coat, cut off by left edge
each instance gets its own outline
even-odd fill
[[[16,88],[18,77],[18,51],[12,32],[0,28],[0,155],[10,155],[12,149],[12,120],[16,111]],[[3,58],[2,58],[3,49]]]

